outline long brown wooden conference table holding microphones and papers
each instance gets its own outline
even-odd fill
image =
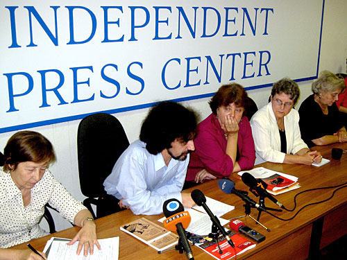
[[[343,148],[346,150],[347,144],[332,144],[328,146],[316,146],[312,150],[319,150],[324,158],[330,159],[330,163],[321,167],[306,166],[301,164],[275,164],[266,162],[257,166],[269,168],[273,171],[287,173],[298,177],[298,182],[301,184],[300,189],[282,193],[276,196],[287,209],[294,207],[294,196],[304,190],[314,189],[318,187],[333,187],[339,184],[347,183],[347,154],[344,153],[339,160],[332,159],[331,149],[333,147]],[[235,188],[243,191],[248,191],[248,187],[237,178],[237,174],[233,173],[230,180],[235,182]],[[235,218],[236,216],[244,215],[244,202],[233,194],[226,194],[218,187],[218,179],[205,182],[187,189],[183,192],[200,189],[205,196],[214,198],[228,205],[234,205],[235,209],[229,211],[222,218]],[[293,212],[271,211],[280,218],[291,218],[301,209],[301,207],[326,200],[319,204],[305,207],[294,219],[289,221],[278,220],[273,216],[262,212],[260,222],[271,229],[271,232],[266,231],[263,227],[256,224],[249,216],[242,217],[240,220],[248,227],[255,229],[257,232],[266,236],[265,241],[257,243],[255,248],[239,254],[237,259],[317,259],[319,249],[329,245],[339,237],[347,234],[347,187],[339,189],[332,196],[332,193],[337,188],[320,189],[308,191],[298,196],[296,199],[296,209]],[[248,193],[253,200],[258,200],[253,194]],[[266,207],[276,208],[277,206],[268,198],[265,199]],[[251,209],[251,216],[257,217],[257,209]],[[133,236],[122,232],[119,227],[133,220],[141,218],[143,215],[134,215],[129,209],[96,219],[99,239],[105,239],[113,236],[119,236],[119,259],[186,259],[185,254],[179,254],[176,250],[163,252],[158,254],[156,250],[145,245]],[[164,215],[145,216],[149,220],[158,222],[158,219]],[[228,225],[226,225],[228,227]],[[37,250],[43,250],[46,241],[51,236],[63,237],[72,239],[78,232],[79,227],[71,227],[69,229],[56,232],[49,236],[44,236],[40,239],[34,239],[30,243]],[[13,248],[26,249],[26,244],[16,245]],[[209,254],[192,245],[194,259],[212,259]]]

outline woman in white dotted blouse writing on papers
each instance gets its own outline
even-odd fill
[[[49,203],[71,223],[81,227],[68,245],[78,242],[77,254],[93,254],[96,226],[90,211],[62,187],[48,170],[56,160],[51,142],[38,132],[12,135],[4,149],[0,167],[0,248],[24,243],[47,233],[38,223]],[[44,255],[43,253],[41,253]],[[42,259],[30,250],[1,249],[0,259]]]

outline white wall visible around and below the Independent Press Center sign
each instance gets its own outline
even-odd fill
[[[345,0],[325,0],[319,71],[328,69],[334,73],[346,73],[346,10],[347,1]],[[283,62],[285,62],[285,60]],[[292,66],[296,66],[296,64],[292,64]],[[285,76],[287,76],[286,71],[283,71],[283,77]],[[298,105],[296,105],[297,108],[303,100],[311,94],[311,83],[311,81],[299,83],[301,88],[301,97],[298,101]],[[255,103],[257,103],[258,107],[262,107],[267,103],[270,91],[271,88],[267,87],[248,91],[248,94],[253,98]],[[196,111],[201,114],[201,119],[204,119],[208,114],[210,114],[208,100],[209,98],[203,98],[196,101],[189,101],[189,105],[194,107]],[[147,111],[147,109],[144,109],[115,114],[124,126],[130,142],[138,138],[140,125],[144,116],[146,116]],[[51,171],[75,198],[83,200],[84,196],[81,194],[78,180],[76,146],[76,135],[79,122],[80,121],[70,121],[55,125],[45,125],[39,128],[31,128],[31,130],[41,132],[51,140],[58,157],[58,162],[51,166]],[[7,140],[13,134],[14,132],[6,132],[0,135],[1,150],[3,150],[6,146]],[[97,174],[97,163],[95,168],[95,174]],[[60,216],[54,214],[54,218],[57,230],[71,227],[67,220],[63,220]]]

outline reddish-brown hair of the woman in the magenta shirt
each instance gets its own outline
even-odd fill
[[[248,95],[244,87],[237,83],[230,83],[219,87],[208,104],[211,107],[212,113],[217,114],[217,108],[221,105],[226,107],[230,103],[235,103],[237,107],[245,108],[248,102]]]

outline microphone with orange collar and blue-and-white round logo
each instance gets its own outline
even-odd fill
[[[166,200],[164,205],[162,205],[162,211],[167,219],[165,219],[163,223],[166,229],[177,232],[187,258],[189,260],[194,260],[192,248],[190,248],[187,235],[185,234],[185,228],[188,227],[191,218],[189,212],[184,210],[185,208],[182,203],[176,200],[176,198]]]

